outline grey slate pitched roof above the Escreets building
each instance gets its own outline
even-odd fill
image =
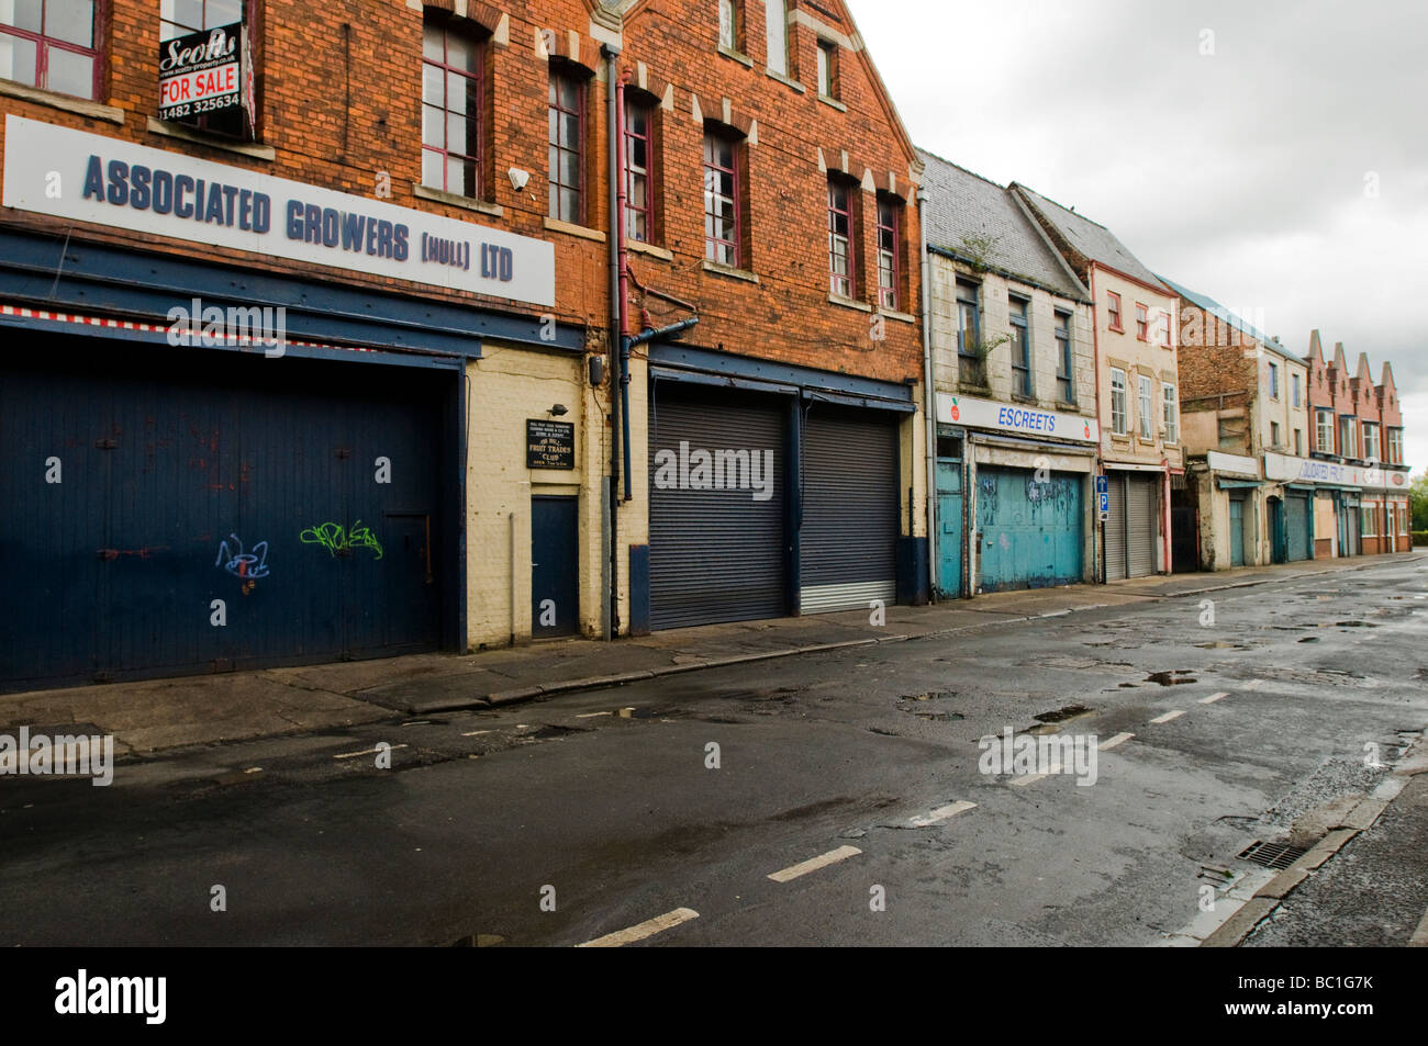
[[[1011,190],[927,150],[917,153],[925,164],[922,221],[930,247],[1072,301],[1091,300]]]

